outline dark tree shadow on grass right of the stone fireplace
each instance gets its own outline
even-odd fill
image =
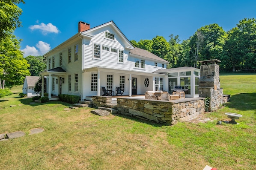
[[[241,111],[256,109],[256,93],[239,93],[231,95],[226,107]]]

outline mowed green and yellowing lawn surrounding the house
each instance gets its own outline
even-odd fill
[[[60,101],[29,104],[31,98],[18,98],[18,93],[0,98],[0,133],[26,133],[0,141],[1,168],[202,170],[207,164],[218,170],[254,170],[256,75],[222,75],[220,84],[231,101],[205,113],[211,121],[174,126],[124,115],[100,117],[92,108],[64,111],[68,104]],[[225,112],[243,117],[236,125],[217,125],[218,120],[230,120]],[[37,127],[45,131],[28,135]]]

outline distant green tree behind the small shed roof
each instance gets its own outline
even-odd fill
[[[30,75],[39,76],[39,72],[43,72],[46,69],[46,60],[43,56],[27,56],[25,58],[30,64]]]

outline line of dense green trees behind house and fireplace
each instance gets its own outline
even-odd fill
[[[133,46],[145,49],[169,61],[167,68],[198,67],[198,61],[218,59],[220,71],[256,70],[256,20],[244,18],[235,28],[225,32],[217,23],[203,26],[189,37],[170,40],[156,36],[152,40],[131,40]]]

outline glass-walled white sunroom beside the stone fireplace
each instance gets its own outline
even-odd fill
[[[157,70],[155,73],[161,73],[167,75],[168,92],[173,93],[177,86],[181,87],[181,90],[185,92],[186,98],[199,97],[199,75],[200,69],[193,67],[179,67],[173,69]]]

